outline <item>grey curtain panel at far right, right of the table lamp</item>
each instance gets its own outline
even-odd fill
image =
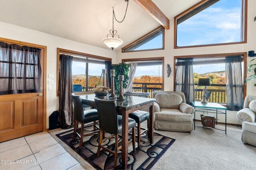
[[[228,110],[239,111],[244,105],[241,61],[241,56],[228,56],[225,59]]]

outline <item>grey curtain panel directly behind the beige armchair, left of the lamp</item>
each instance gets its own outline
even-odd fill
[[[194,101],[193,58],[176,61],[175,91],[185,94],[186,103]]]

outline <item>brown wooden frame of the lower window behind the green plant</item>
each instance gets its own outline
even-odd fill
[[[149,57],[138,59],[122,59],[122,63],[136,61],[159,61],[162,60],[162,91],[164,91],[164,57]]]

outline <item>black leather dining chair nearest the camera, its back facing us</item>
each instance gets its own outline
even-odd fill
[[[97,156],[100,154],[100,148],[110,152],[114,155],[114,168],[116,167],[117,152],[122,149],[122,146],[118,147],[118,133],[122,132],[122,116],[117,114],[116,101],[115,100],[101,100],[99,98],[94,98],[99,115],[100,123],[100,138]],[[128,118],[128,129],[132,128],[132,140],[128,141],[128,144],[132,142],[133,150],[135,151],[135,126],[136,121],[134,119]],[[109,137],[102,139],[102,132],[105,131],[110,133]],[[115,149],[114,151],[104,147],[102,143],[106,140],[115,136]]]

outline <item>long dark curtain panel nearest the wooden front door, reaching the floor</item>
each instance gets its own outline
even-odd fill
[[[71,128],[74,121],[71,100],[71,93],[73,92],[72,59],[71,55],[60,55],[58,121],[62,129]]]

